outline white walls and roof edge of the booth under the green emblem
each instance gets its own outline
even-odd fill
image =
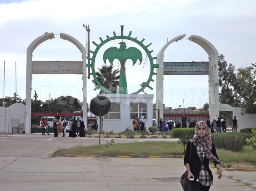
[[[120,120],[103,120],[103,130],[114,133],[119,133],[125,130],[128,126],[133,129],[133,120],[130,119],[130,103],[143,102],[147,103],[147,120],[145,120],[146,128],[152,126],[153,118],[153,94],[98,94],[97,96],[107,96],[111,102],[121,103]],[[99,123],[99,120],[98,120]],[[99,127],[98,127],[99,130]]]

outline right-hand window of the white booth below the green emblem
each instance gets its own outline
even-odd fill
[[[130,119],[135,117],[141,119],[142,116],[144,116],[144,119],[147,119],[147,103],[131,103]]]

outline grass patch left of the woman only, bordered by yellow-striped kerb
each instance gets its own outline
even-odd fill
[[[70,149],[59,149],[53,155],[94,155],[94,156],[170,156],[181,155],[183,145],[177,142],[135,142],[116,143],[112,146],[91,145],[89,147],[76,146]]]

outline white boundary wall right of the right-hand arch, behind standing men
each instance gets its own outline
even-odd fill
[[[220,111],[232,111],[233,116],[232,119],[234,119],[234,116],[236,116],[236,119],[238,121],[238,128],[237,131],[239,132],[240,129],[244,128],[250,128],[250,127],[256,127],[256,115],[255,114],[244,114],[242,115],[242,108],[233,108],[232,106],[228,104],[220,104],[219,105]]]

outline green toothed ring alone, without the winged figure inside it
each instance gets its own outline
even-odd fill
[[[90,51],[91,53],[93,53],[93,57],[92,57],[92,58],[87,57],[87,59],[91,60],[91,64],[87,64],[87,67],[91,67],[91,73],[89,73],[88,75],[93,75],[93,78],[94,78],[93,82],[96,82],[97,85],[98,85],[98,86],[95,87],[94,90],[100,88],[102,91],[104,91],[104,92],[107,93],[107,94],[115,94],[114,92],[112,92],[112,91],[106,89],[106,88],[99,82],[99,80],[97,79],[96,74],[95,74],[95,58],[96,58],[96,55],[97,55],[99,49],[100,49],[105,43],[107,43],[107,42],[109,42],[109,41],[111,41],[111,40],[116,40],[116,39],[127,39],[127,40],[131,40],[131,41],[137,43],[137,44],[138,44],[140,47],[142,47],[142,48],[144,49],[144,51],[147,53],[147,56],[148,56],[149,61],[150,61],[150,74],[149,74],[149,77],[148,77],[147,82],[142,86],[142,88],[140,88],[140,89],[139,89],[138,91],[136,91],[136,92],[133,92],[132,94],[139,94],[139,93],[142,92],[146,87],[148,87],[149,89],[153,90],[153,88],[152,88],[151,86],[149,86],[149,83],[150,83],[151,81],[152,81],[152,82],[154,81],[154,80],[152,79],[152,76],[153,76],[153,75],[156,75],[156,73],[154,73],[154,68],[158,68],[158,64],[154,64],[154,63],[153,63],[153,59],[157,59],[157,57],[153,57],[153,58],[152,58],[151,53],[152,53],[153,51],[149,51],[149,50],[148,50],[148,47],[149,47],[152,43],[150,43],[150,44],[148,44],[147,46],[145,46],[145,45],[143,44],[143,41],[144,41],[145,39],[143,38],[141,41],[139,41],[139,40],[137,40],[136,38],[132,38],[132,37],[131,37],[131,31],[130,31],[130,33],[129,33],[128,36],[124,36],[124,35],[117,36],[115,32],[113,32],[113,34],[114,34],[113,37],[109,37],[109,36],[107,35],[107,39],[105,39],[105,40],[102,40],[102,38],[99,38],[100,41],[101,41],[100,44],[97,44],[97,43],[95,43],[95,42],[93,41],[93,44],[96,46],[96,49],[95,49],[95,51]]]

